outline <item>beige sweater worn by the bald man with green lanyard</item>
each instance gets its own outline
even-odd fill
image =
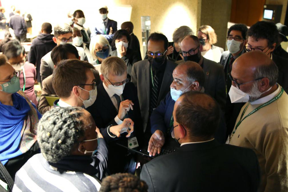
[[[242,107],[236,124],[247,104]],[[260,105],[250,104],[243,118]],[[230,144],[255,151],[261,170],[260,192],[287,192],[288,95],[285,91],[278,100],[244,119],[232,136]]]

